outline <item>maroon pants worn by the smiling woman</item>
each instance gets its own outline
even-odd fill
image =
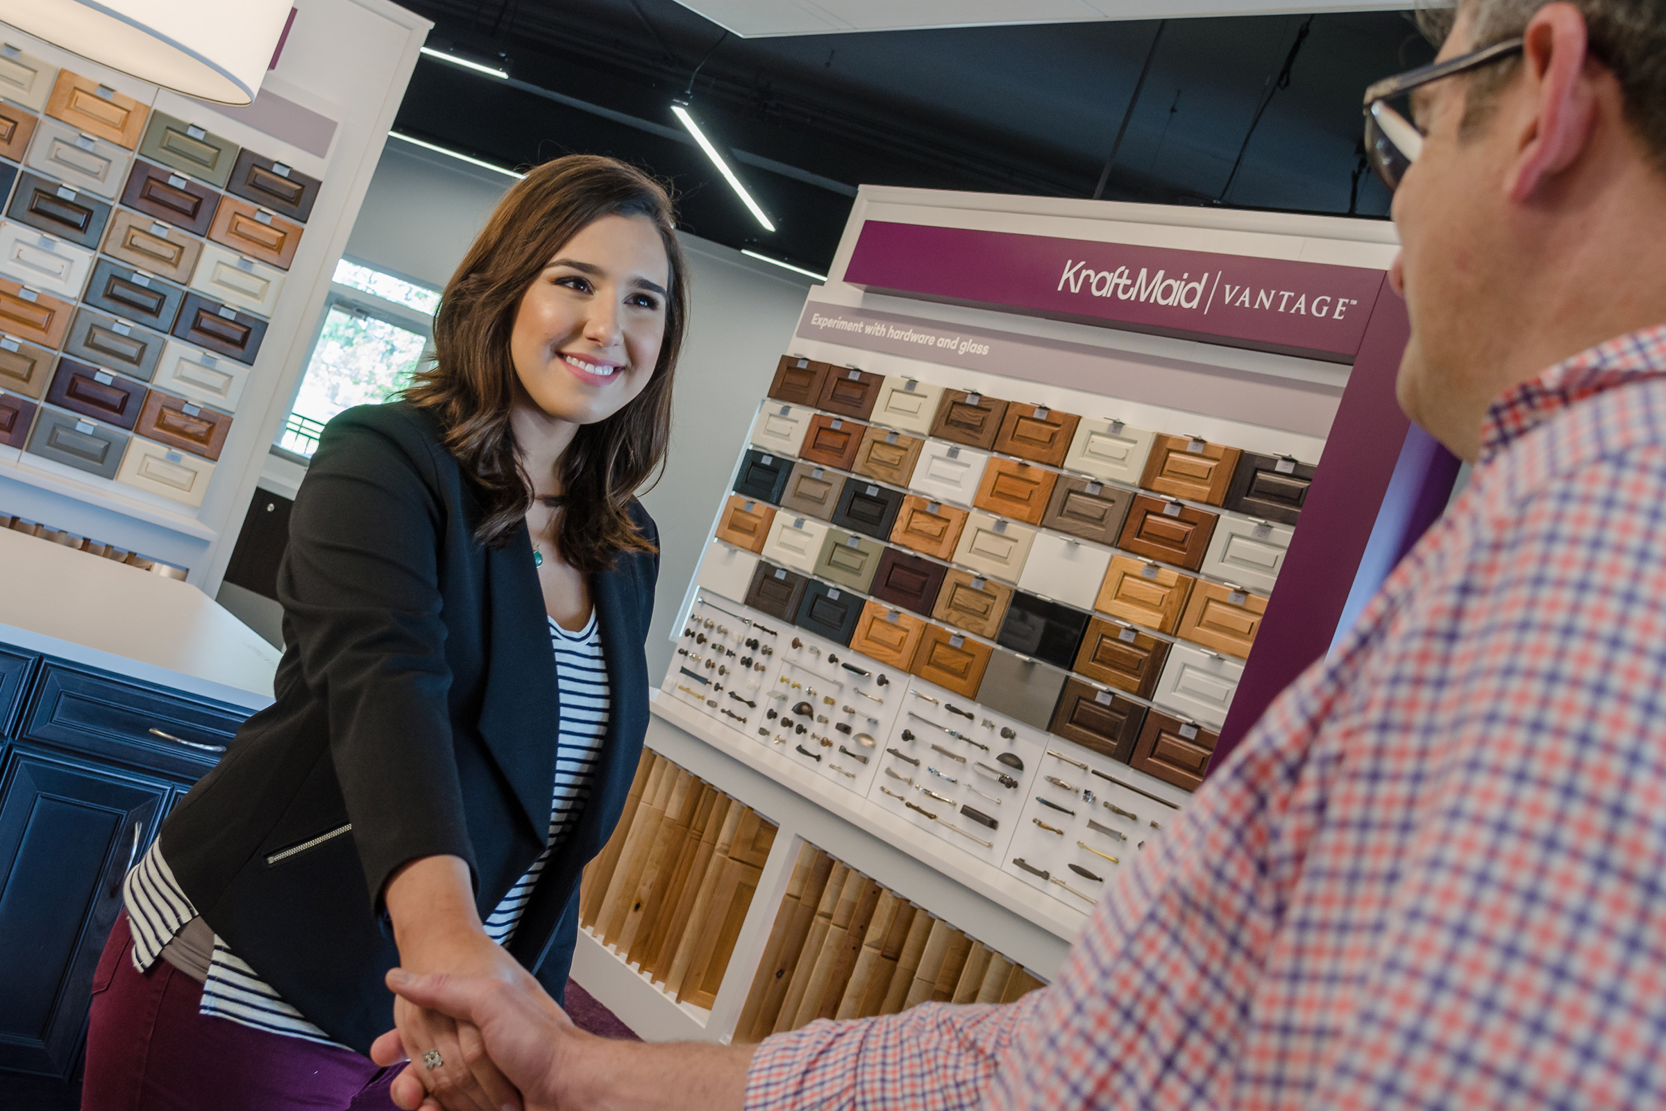
[[[120,914],[93,976],[82,1111],[393,1111],[403,1066],[207,1018],[202,993],[160,958],[138,973]]]

